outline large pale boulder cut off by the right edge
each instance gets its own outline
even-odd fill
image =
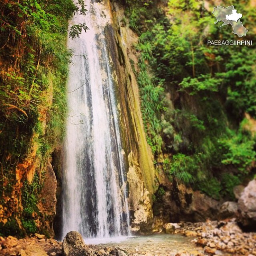
[[[249,182],[238,200],[238,222],[256,229],[256,179]]]

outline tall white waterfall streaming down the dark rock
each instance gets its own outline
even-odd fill
[[[86,238],[130,234],[117,101],[104,28],[104,4],[86,0],[89,27],[68,40],[73,64],[68,80],[67,134],[63,160],[62,238],[76,230]]]

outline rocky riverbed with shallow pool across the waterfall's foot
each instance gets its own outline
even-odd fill
[[[83,245],[79,234],[63,243],[36,234],[0,237],[2,256],[256,256],[256,233],[242,232],[235,219],[168,223],[161,234],[135,236],[118,243]],[[72,250],[74,250],[72,252]]]

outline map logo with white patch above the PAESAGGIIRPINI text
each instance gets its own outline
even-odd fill
[[[222,6],[214,7],[212,13],[217,19],[214,24],[222,21],[224,23],[220,27],[230,24],[233,28],[232,32],[234,34],[238,35],[239,37],[246,36],[248,30],[243,26],[242,22],[240,21],[240,18],[242,18],[243,15],[241,13],[237,13],[237,10],[234,8],[233,5],[226,8]]]

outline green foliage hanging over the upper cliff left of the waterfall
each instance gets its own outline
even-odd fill
[[[15,167],[29,156],[34,144],[39,145],[37,154],[44,164],[62,141],[72,56],[66,37],[68,20],[76,12],[85,14],[84,1],[79,0],[77,6],[72,0],[2,5],[0,165],[4,172],[0,172],[0,196],[11,193]],[[80,30],[71,28],[71,37],[86,30],[85,24],[77,26]]]

